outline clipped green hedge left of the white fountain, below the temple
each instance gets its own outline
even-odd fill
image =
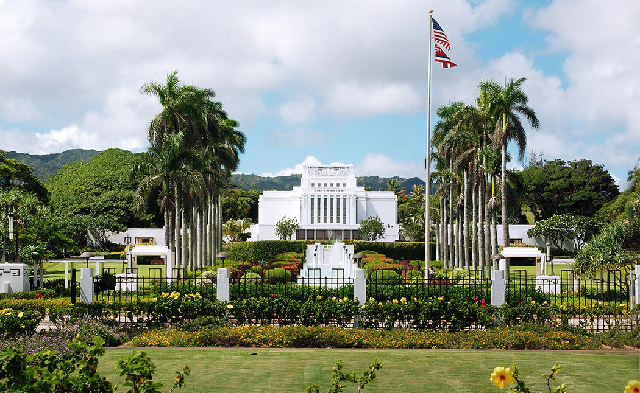
[[[226,244],[224,250],[229,253],[230,260],[269,261],[274,259],[276,255],[285,252],[304,253],[307,250],[307,242],[304,240],[260,240]]]

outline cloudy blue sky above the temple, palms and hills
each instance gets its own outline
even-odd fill
[[[640,156],[640,2],[626,0],[0,1],[0,149],[142,151],[160,107],[139,88],[179,70],[240,121],[240,172],[424,177],[430,9],[459,65],[434,66],[432,113],[527,77],[528,154],[591,159],[624,188]]]

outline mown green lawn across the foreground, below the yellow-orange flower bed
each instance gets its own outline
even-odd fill
[[[344,372],[365,371],[374,359],[384,363],[366,391],[375,392],[499,392],[489,381],[496,366],[517,363],[532,391],[546,391],[541,378],[554,363],[558,376],[573,392],[621,392],[628,380],[640,379],[640,353],[349,350],[262,348],[144,348],[158,367],[157,380],[170,387],[175,371],[189,366],[188,392],[304,392],[311,383],[328,390],[331,369],[344,361]],[[121,357],[134,350],[107,350],[100,373],[122,386],[115,370]],[[139,349],[136,351],[140,352]],[[253,354],[253,355],[252,355]],[[351,385],[351,386],[349,386]],[[347,384],[346,392],[355,391]],[[167,389],[168,391],[168,389]]]

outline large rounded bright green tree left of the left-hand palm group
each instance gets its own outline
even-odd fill
[[[109,149],[86,163],[65,165],[47,180],[51,208],[77,244],[86,245],[89,233],[101,244],[106,231],[150,226],[152,217],[141,217],[134,209],[141,177],[133,168],[139,160],[134,153]]]

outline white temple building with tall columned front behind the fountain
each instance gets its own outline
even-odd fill
[[[359,239],[360,222],[378,216],[385,225],[381,241],[398,240],[397,198],[392,191],[365,191],[356,184],[355,167],[304,165],[300,187],[265,191],[258,205],[258,223],[249,240],[277,240],[276,223],[283,217],[300,224],[293,239]]]

